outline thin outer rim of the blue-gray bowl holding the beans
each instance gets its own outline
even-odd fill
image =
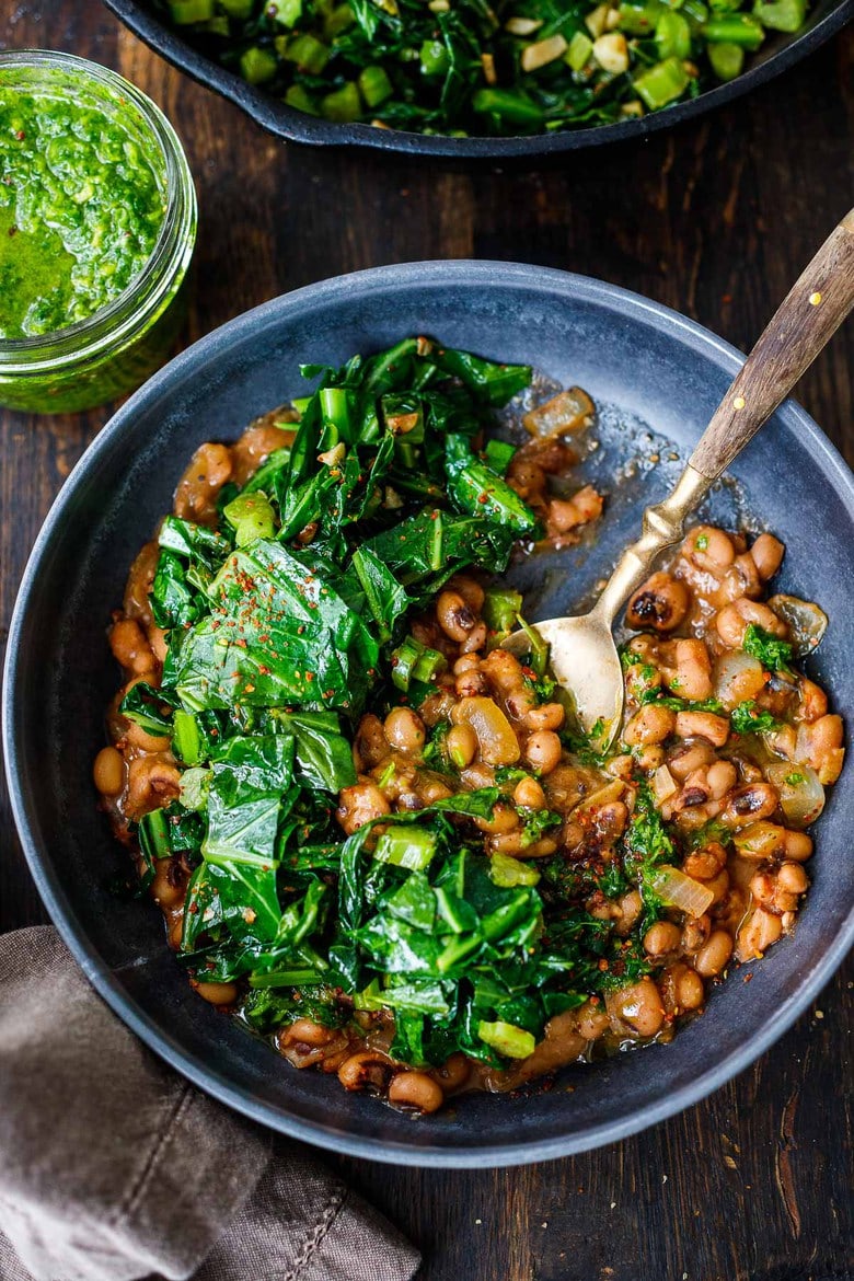
[[[746,1068],[807,1009],[841,963],[854,943],[854,913],[839,930],[812,974],[781,1006],[768,1011],[759,1029],[744,1045],[732,1050],[722,1061],[711,1061],[705,1071],[689,1084],[675,1089],[666,1098],[615,1121],[592,1122],[572,1134],[536,1141],[521,1139],[478,1149],[410,1146],[396,1140],[353,1135],[332,1125],[326,1126],[273,1109],[255,1098],[250,1090],[229,1080],[218,1063],[206,1062],[200,1056],[183,1049],[169,1032],[164,1031],[156,1020],[138,1007],[133,997],[123,989],[79,924],[70,901],[59,884],[50,856],[40,848],[29,826],[22,783],[23,762],[18,752],[17,734],[17,728],[24,715],[24,708],[18,699],[22,632],[31,602],[38,592],[41,562],[50,552],[54,541],[61,537],[65,510],[90,469],[118,446],[134,415],[150,402],[156,401],[161,388],[165,389],[166,386],[179,386],[186,382],[192,375],[193,368],[206,361],[209,355],[213,355],[223,342],[229,345],[232,341],[239,342],[243,337],[256,332],[259,327],[282,323],[294,314],[298,315],[305,304],[310,306],[324,305],[348,293],[362,296],[371,292],[393,293],[396,290],[410,290],[417,284],[439,290],[451,286],[478,290],[525,287],[529,292],[540,295],[557,293],[567,304],[581,302],[599,306],[612,314],[630,315],[647,324],[653,323],[659,332],[670,332],[680,343],[685,343],[689,348],[711,359],[712,364],[725,373],[735,375],[744,363],[743,354],[730,343],[663,304],[653,302],[629,290],[590,277],[519,263],[456,259],[370,268],[305,286],[236,316],[187,347],[129,397],[78,460],[45,518],[24,567],[9,628],[3,688],[3,751],[6,781],[15,828],[31,875],[69,951],[90,983],[127,1026],[193,1085],[252,1121],[351,1157],[362,1157],[391,1164],[457,1170],[529,1164],[592,1150],[638,1134],[640,1130],[699,1103]],[[837,492],[848,498],[848,503],[854,511],[854,475],[821,428],[791,400],[784,401],[777,414],[796,430],[804,447],[823,465],[825,470],[834,475]]]

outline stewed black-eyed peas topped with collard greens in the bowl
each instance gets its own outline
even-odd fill
[[[412,1114],[670,1040],[794,927],[842,722],[771,533],[632,596],[613,747],[499,647],[580,541],[595,409],[410,338],[202,445],[110,628],[95,785],[198,994]],[[495,411],[520,404],[516,442]],[[506,433],[504,433],[506,434]],[[520,443],[519,437],[524,437]]]

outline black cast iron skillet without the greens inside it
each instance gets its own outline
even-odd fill
[[[282,138],[309,142],[314,146],[351,145],[378,147],[382,151],[402,151],[407,155],[462,159],[544,156],[600,146],[606,142],[647,137],[658,129],[670,128],[713,106],[729,102],[757,85],[764,85],[772,76],[777,76],[818,49],[840,31],[854,13],[854,0],[817,0],[805,27],[795,36],[771,33],[762,50],[750,55],[748,70],[743,76],[729,85],[708,90],[691,101],[679,102],[663,111],[653,111],[640,119],[588,129],[567,129],[561,133],[539,133],[524,138],[449,138],[376,129],[370,124],[334,124],[305,111],[296,111],[264,90],[254,88],[237,73],[206,58],[157,17],[151,0],[105,0],[105,4],[163,58],[187,72],[193,79],[201,81],[207,88],[216,90],[232,102],[237,102],[259,124]]]

